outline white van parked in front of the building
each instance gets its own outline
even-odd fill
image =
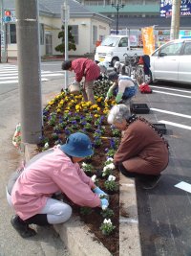
[[[96,47],[96,62],[108,61],[112,66],[116,61],[124,62],[125,56],[143,55],[141,48],[132,48],[127,35],[108,35],[101,44]]]

